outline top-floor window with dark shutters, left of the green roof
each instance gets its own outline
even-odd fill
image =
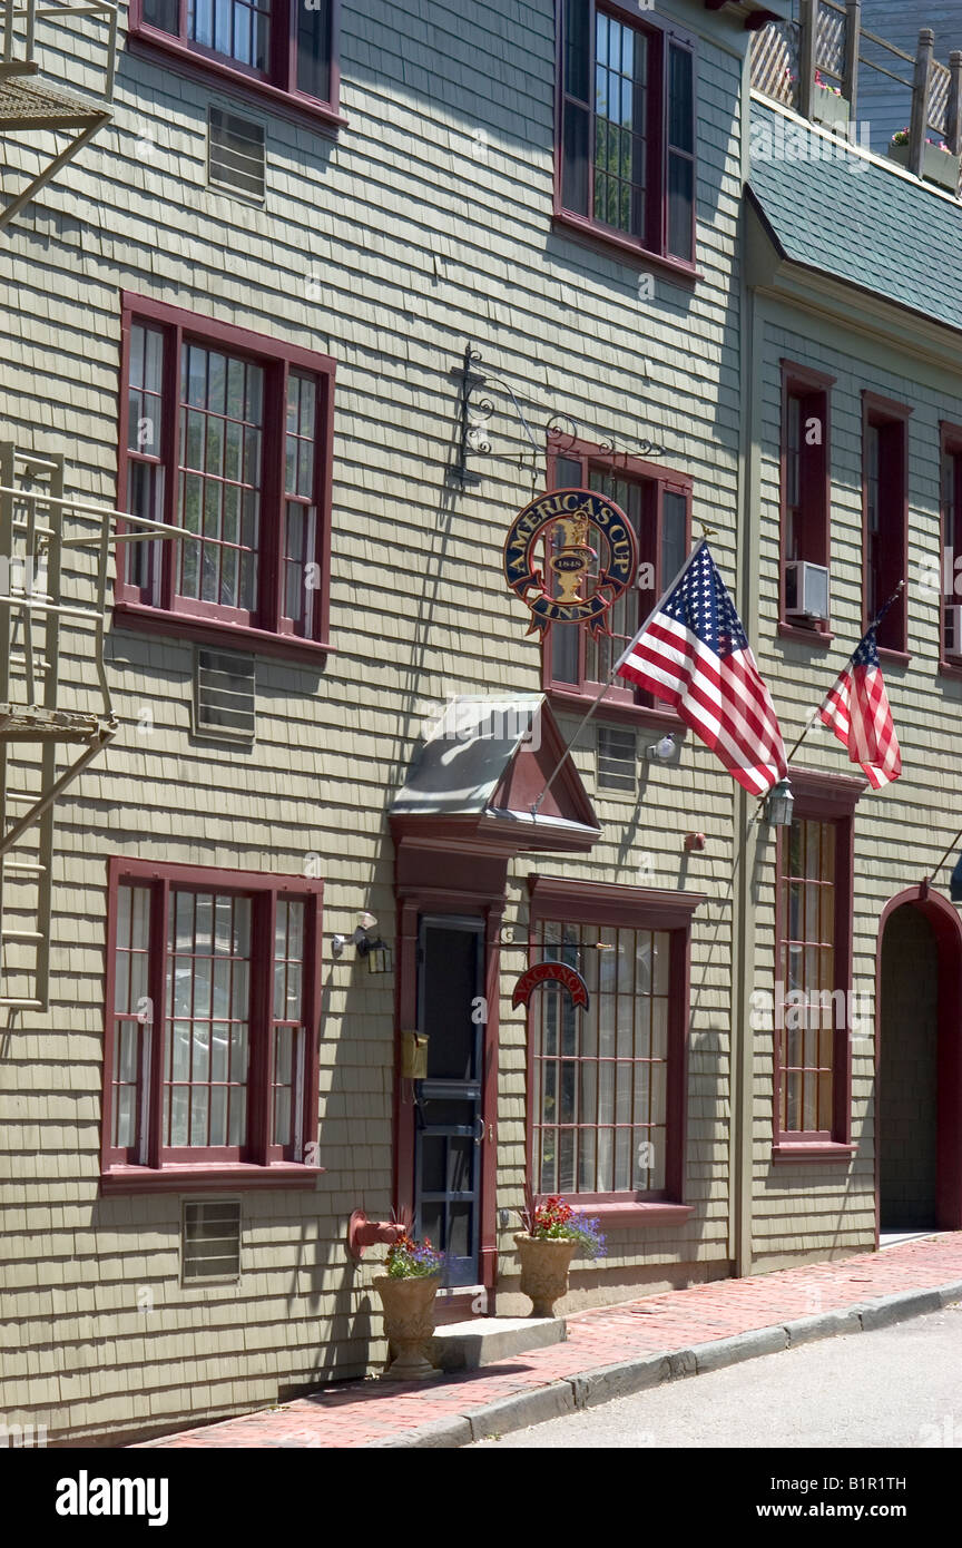
[[[631,8],[636,9],[634,6]],[[625,6],[558,0],[557,214],[694,262],[694,56]]]

